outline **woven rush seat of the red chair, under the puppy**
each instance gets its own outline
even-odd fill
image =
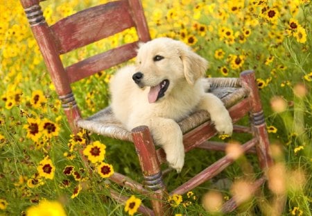
[[[210,84],[207,92],[215,94],[220,98],[225,107],[230,108],[238,101],[241,101],[246,96],[246,90],[241,88],[239,78],[206,78]],[[205,110],[200,110],[189,115],[189,117],[178,122],[182,133],[187,133],[196,126],[209,121],[209,113]],[[88,131],[104,135],[106,137],[115,138],[133,142],[132,132],[123,127],[123,124],[114,117],[112,108],[100,110],[87,119],[79,119],[77,122],[80,128],[85,128]]]

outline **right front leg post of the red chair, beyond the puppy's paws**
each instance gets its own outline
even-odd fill
[[[241,85],[250,90],[249,98],[252,128],[254,135],[259,140],[259,143],[256,145],[257,155],[261,169],[266,170],[272,165],[273,162],[272,157],[270,156],[270,142],[268,140],[268,132],[266,130],[266,122],[259,97],[259,90],[253,71],[245,71],[241,73]]]

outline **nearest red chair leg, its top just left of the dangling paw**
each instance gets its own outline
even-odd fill
[[[132,138],[139,156],[146,187],[153,191],[151,203],[155,215],[165,215],[166,205],[163,201],[166,188],[162,181],[162,171],[155,151],[153,138],[147,126],[132,130]]]

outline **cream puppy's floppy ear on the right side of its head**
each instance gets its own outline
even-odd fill
[[[208,68],[208,62],[205,58],[202,58],[197,53],[193,52],[186,44],[183,45],[178,49],[180,58],[183,62],[184,76],[187,79],[187,82],[193,85],[198,78],[205,75]]]

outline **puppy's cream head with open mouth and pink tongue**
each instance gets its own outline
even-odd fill
[[[140,44],[136,65],[133,81],[140,88],[150,87],[148,101],[154,103],[170,94],[176,83],[193,85],[208,63],[183,42],[157,38]]]

